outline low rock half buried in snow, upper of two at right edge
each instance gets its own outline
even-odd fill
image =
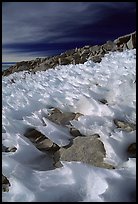
[[[118,128],[121,128],[124,131],[131,132],[136,130],[136,125],[126,121],[114,119],[114,123]]]

